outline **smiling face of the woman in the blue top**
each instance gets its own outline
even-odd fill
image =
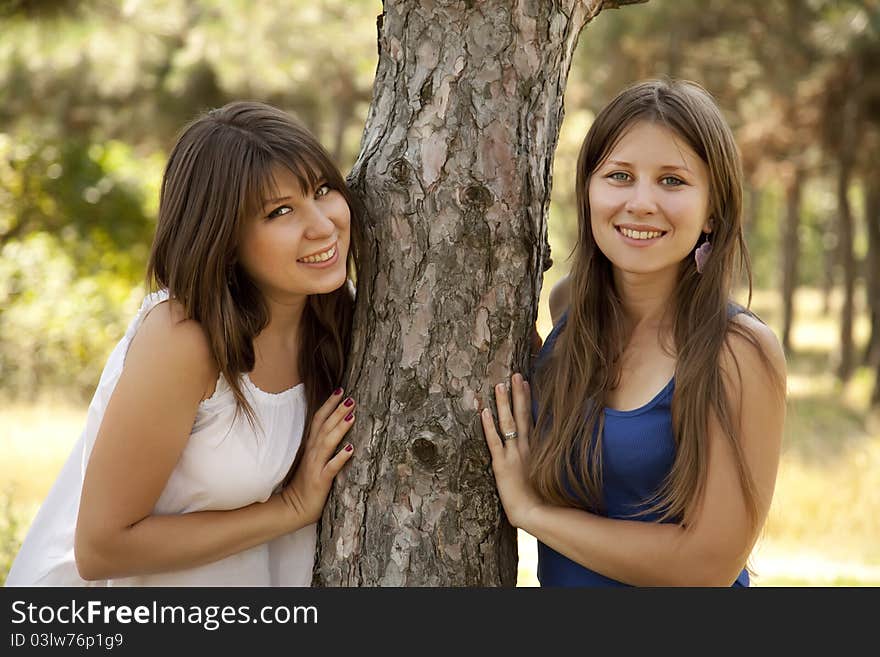
[[[675,132],[638,121],[624,132],[588,185],[593,238],[615,270],[677,275],[710,232],[709,171]]]

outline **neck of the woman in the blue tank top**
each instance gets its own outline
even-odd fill
[[[614,268],[617,293],[633,330],[640,327],[660,329],[668,321],[677,281],[677,267],[650,274]]]

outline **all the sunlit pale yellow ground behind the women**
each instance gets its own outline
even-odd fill
[[[804,290],[797,301],[784,451],[752,554],[754,584],[880,586],[880,417],[866,410],[873,373],[862,368],[841,386],[833,376],[839,299],[828,313],[818,291]],[[778,333],[775,306],[774,294],[755,295],[753,308]],[[861,313],[857,344],[866,337]],[[0,580],[84,420],[84,405],[0,408]],[[521,532],[519,586],[537,585],[536,560],[535,540]]]

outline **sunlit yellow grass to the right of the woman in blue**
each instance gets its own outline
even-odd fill
[[[864,297],[856,298],[864,308]],[[776,296],[753,306],[777,335]],[[794,354],[788,361],[788,413],[773,506],[754,556],[759,584],[880,585],[880,414],[869,412],[874,373],[834,376],[841,298],[826,312],[818,290],[796,298]],[[860,356],[868,321],[859,312]]]

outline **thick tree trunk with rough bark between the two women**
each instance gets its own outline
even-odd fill
[[[562,95],[602,8],[384,3],[349,175],[368,242],[347,377],[355,457],[322,518],[315,585],[516,583],[474,404],[528,365]]]

